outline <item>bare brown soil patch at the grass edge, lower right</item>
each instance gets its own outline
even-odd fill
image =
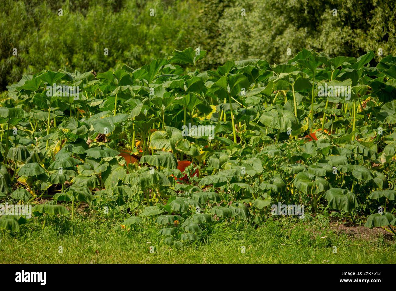
[[[367,228],[364,226],[347,226],[344,223],[333,222],[330,223],[330,228],[336,233],[345,233],[362,240],[375,240],[377,238],[395,240],[394,235],[391,232],[388,232],[381,227]]]

